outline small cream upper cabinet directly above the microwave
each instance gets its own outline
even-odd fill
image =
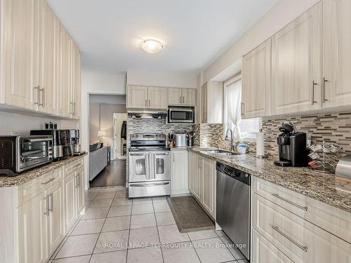
[[[168,88],[168,105],[195,106],[195,88]]]

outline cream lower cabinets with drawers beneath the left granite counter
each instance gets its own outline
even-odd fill
[[[11,202],[0,207],[0,219],[6,221],[0,232],[8,241],[1,242],[0,262],[47,262],[84,210],[84,161],[19,187],[0,188],[2,199]]]

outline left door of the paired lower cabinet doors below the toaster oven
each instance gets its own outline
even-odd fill
[[[20,262],[46,262],[47,210],[45,196],[38,195],[18,208]]]

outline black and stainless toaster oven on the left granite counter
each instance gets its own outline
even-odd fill
[[[52,161],[50,135],[0,136],[0,175],[14,176]]]

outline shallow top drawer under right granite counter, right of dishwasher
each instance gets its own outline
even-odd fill
[[[253,192],[351,243],[351,213],[256,177]]]

